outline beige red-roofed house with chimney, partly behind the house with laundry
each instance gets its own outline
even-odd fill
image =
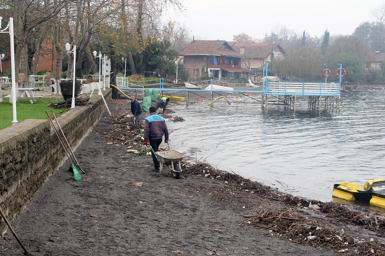
[[[280,61],[287,55],[280,44],[275,43],[254,43],[251,42],[229,42],[229,45],[243,56],[241,65],[243,68],[251,69],[252,80],[259,80],[263,63],[271,59],[271,52],[274,59]]]

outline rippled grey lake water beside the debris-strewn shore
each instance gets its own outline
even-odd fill
[[[295,114],[280,106],[264,114],[260,104],[177,106],[173,116],[186,121],[167,122],[171,149],[286,193],[331,201],[335,183],[385,179],[384,97],[378,90],[345,93],[339,114],[310,111],[308,96],[297,97]]]

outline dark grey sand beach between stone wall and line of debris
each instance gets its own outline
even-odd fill
[[[109,108],[113,115],[130,113],[129,104],[110,103]],[[31,255],[337,254],[239,225],[243,216],[259,211],[258,206],[276,201],[264,195],[250,201],[220,200],[221,189],[236,185],[187,173],[177,180],[168,169],[154,173],[150,155],[127,152],[126,145],[104,134],[115,129],[106,117],[107,111],[75,151],[87,179],[76,182],[67,161],[12,223]],[[319,219],[325,215],[303,214]],[[359,226],[335,226],[340,225],[352,235],[368,234]],[[1,256],[23,255],[9,230],[4,237],[11,240],[1,239]]]

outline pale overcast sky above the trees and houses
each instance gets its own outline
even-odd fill
[[[232,41],[233,35],[246,33],[263,38],[275,23],[299,33],[321,37],[347,35],[362,21],[373,20],[371,10],[383,0],[182,0],[185,16],[168,13],[168,18],[185,23],[191,36],[203,40]]]

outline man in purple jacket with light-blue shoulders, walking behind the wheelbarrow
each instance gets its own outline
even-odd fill
[[[156,108],[150,107],[150,116],[144,119],[144,144],[149,144],[156,152],[159,151],[159,144],[162,142],[164,134],[164,142],[168,141],[168,129],[166,121],[163,117],[156,114]],[[156,159],[155,154],[151,154],[152,161],[154,162],[154,169],[152,171],[159,172],[159,161]]]

